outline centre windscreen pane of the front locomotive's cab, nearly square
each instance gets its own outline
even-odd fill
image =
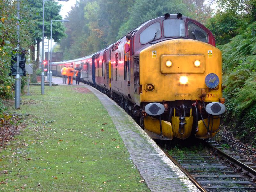
[[[164,37],[185,37],[185,22],[181,19],[166,19],[163,22]]]

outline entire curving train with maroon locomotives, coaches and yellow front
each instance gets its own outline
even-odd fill
[[[156,139],[213,137],[225,112],[222,56],[211,31],[182,14],[168,13],[126,38],[83,58],[52,63],[52,75],[80,64],[81,78],[134,117]]]

